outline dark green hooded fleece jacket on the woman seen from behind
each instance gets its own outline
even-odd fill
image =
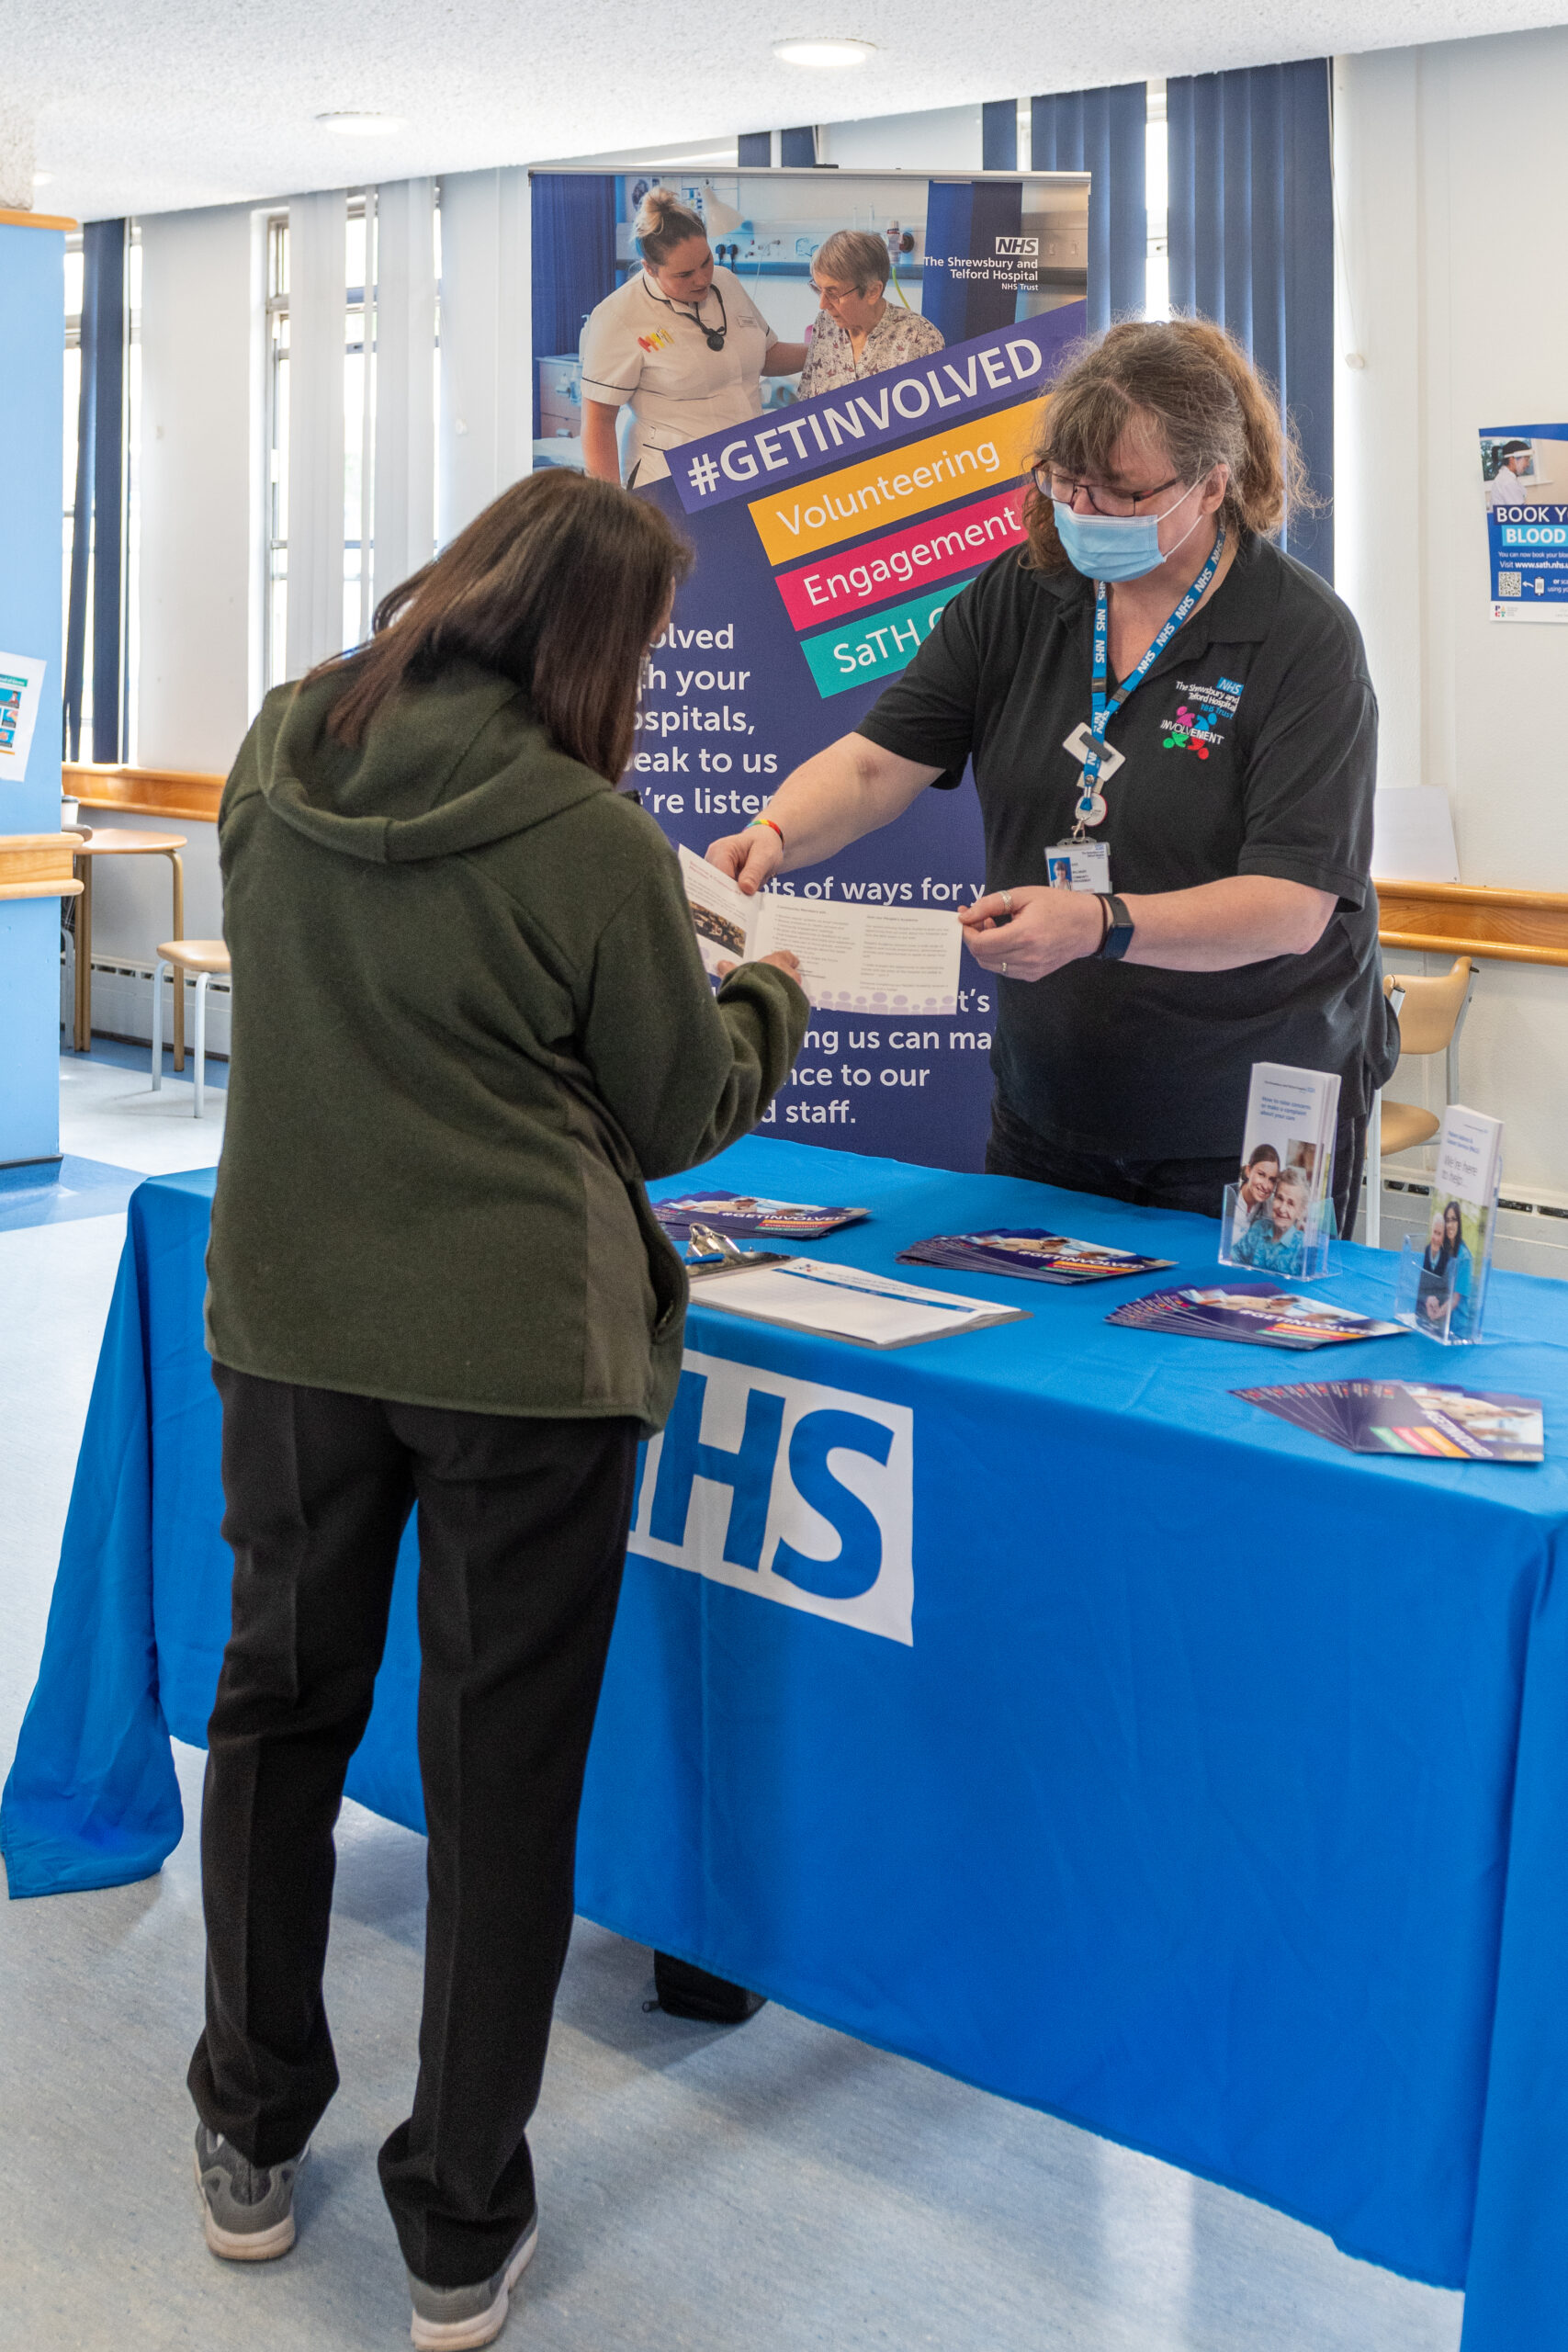
[[[686,1275],[644,1178],[755,1127],[809,1007],[715,1002],[679,868],[458,666],[348,750],[339,680],[268,694],[223,790],[228,1131],[207,1345],[235,1371],[475,1414],[675,1397]]]

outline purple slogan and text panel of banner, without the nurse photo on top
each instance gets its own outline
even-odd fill
[[[945,604],[1025,543],[1041,395],[1084,303],[670,452],[654,499],[696,550],[654,647],[628,783],[698,854],[757,816],[790,769],[851,734]],[[985,891],[973,783],[780,891],[825,903],[959,908]],[[813,1021],[764,1134],[978,1169],[994,983],[964,962],[952,1018]]]

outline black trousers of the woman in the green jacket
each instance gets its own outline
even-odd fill
[[[425,1999],[381,2150],[404,2260],[470,2286],[534,2213],[527,2122],[571,1933],[576,1818],[632,1515],[632,1421],[517,1421],[216,1369],[233,1635],[202,1802],[202,2122],[299,2154],[339,2070],[331,1830],[418,1505]]]

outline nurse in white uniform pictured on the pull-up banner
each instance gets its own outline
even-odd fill
[[[583,466],[621,480],[616,412],[630,407],[628,489],[670,470],[665,449],[762,414],[762,376],[792,376],[804,343],[780,343],[745,287],[715,268],[708,230],[670,188],[637,212],[642,270],[583,327]]]

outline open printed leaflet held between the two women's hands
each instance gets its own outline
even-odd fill
[[[957,915],[790,891],[748,898],[738,882],[689,849],[679,851],[679,870],[708,971],[788,948],[799,957],[806,995],[825,1011],[957,1014],[964,948]]]

